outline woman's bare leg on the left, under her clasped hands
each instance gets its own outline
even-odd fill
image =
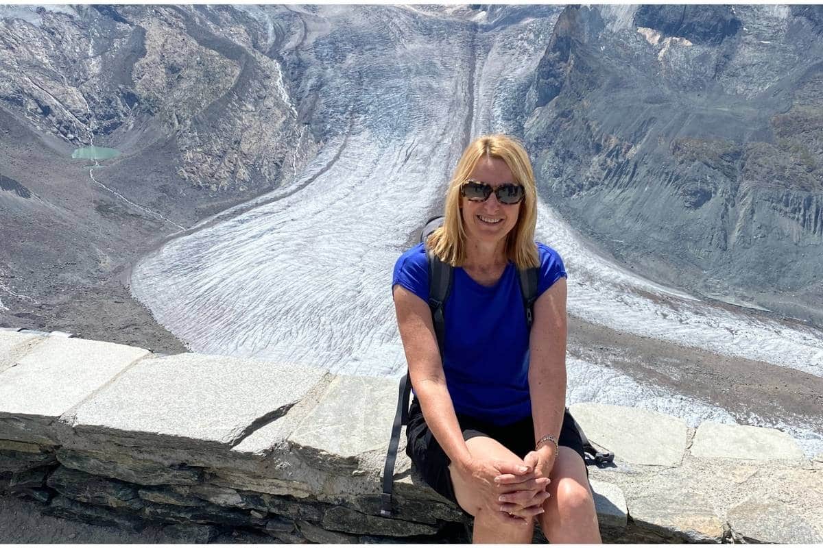
[[[466,445],[472,456],[496,458],[500,460],[519,460],[518,456],[506,449],[499,442],[478,436],[467,440]],[[472,486],[461,481],[460,475],[449,465],[454,495],[460,507],[474,516],[472,543],[474,544],[530,544],[534,532],[534,520],[528,523],[509,523],[501,518],[499,512],[491,512],[480,500],[479,494]]]

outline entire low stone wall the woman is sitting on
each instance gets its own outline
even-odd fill
[[[0,492],[183,541],[467,541],[403,444],[379,517],[396,380],[0,330]],[[607,541],[821,542],[823,458],[788,435],[579,404]],[[539,533],[538,533],[539,536]],[[0,539],[14,541],[14,539]]]

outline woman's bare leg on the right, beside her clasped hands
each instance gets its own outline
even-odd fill
[[[560,447],[551,470],[551,496],[538,519],[551,544],[599,544],[594,497],[588,488],[586,464],[574,449]]]

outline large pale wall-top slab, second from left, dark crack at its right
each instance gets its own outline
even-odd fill
[[[77,408],[72,426],[80,438],[230,448],[277,421],[324,374],[293,363],[192,353],[143,360]]]

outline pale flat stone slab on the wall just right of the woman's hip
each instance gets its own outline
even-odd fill
[[[575,403],[570,412],[588,440],[616,461],[677,466],[686,453],[686,421],[655,411],[604,403]]]

